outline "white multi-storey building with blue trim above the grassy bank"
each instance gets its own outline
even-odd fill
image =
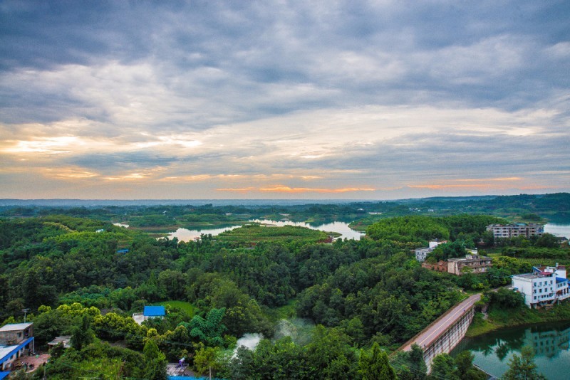
[[[512,276],[513,290],[517,290],[524,296],[524,303],[528,307],[541,307],[553,305],[561,300],[570,297],[568,291],[568,280],[556,275],[556,268],[553,271],[533,268],[532,273]],[[559,274],[566,274],[566,268],[560,270]]]

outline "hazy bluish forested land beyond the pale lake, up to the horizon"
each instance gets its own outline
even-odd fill
[[[461,213],[492,215],[527,221],[570,220],[570,194],[520,194],[516,196],[467,196],[405,199],[397,201],[351,201],[326,204],[192,204],[172,201],[168,204],[133,204],[108,201],[21,201],[0,199],[0,216],[48,216],[61,214],[100,221],[129,224],[153,231],[172,231],[175,227],[231,226],[248,223],[253,218],[304,221],[309,224],[331,221],[353,222],[353,228],[365,231],[382,218],[393,216],[450,216]],[[61,206],[66,204],[67,206]],[[38,206],[41,205],[41,206]]]

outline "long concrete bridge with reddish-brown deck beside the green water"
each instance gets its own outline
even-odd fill
[[[405,342],[400,350],[410,351],[413,344],[418,344],[424,351],[423,359],[427,365],[427,373],[430,373],[433,358],[437,354],[449,354],[465,337],[465,332],[475,315],[475,302],[480,299],[480,294],[472,295],[447,310],[422,332]]]

